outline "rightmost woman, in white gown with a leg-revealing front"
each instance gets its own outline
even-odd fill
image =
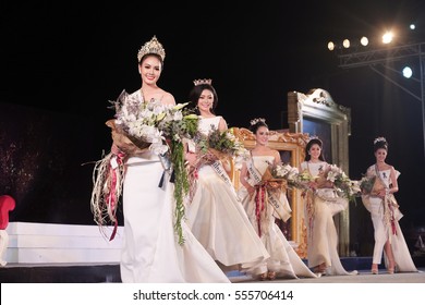
[[[415,272],[417,269],[399,224],[403,215],[393,196],[399,191],[397,179],[400,172],[385,161],[388,143],[384,137],[374,141],[374,152],[376,163],[367,169],[366,178],[375,178],[378,181],[375,182],[372,193],[362,196],[364,206],[371,212],[375,232],[372,273],[378,273],[382,252],[388,273],[393,273],[396,268],[402,272]]]

